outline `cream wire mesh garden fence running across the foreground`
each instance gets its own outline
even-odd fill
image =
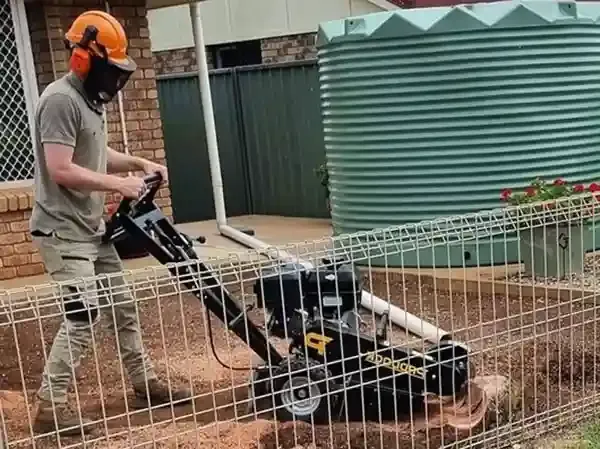
[[[576,435],[600,402],[599,208],[583,195],[4,291],[5,446],[543,447]],[[515,238],[523,263],[401,263]],[[68,346],[51,351],[60,329]],[[65,390],[70,414],[38,397]]]

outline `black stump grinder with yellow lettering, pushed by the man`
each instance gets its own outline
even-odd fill
[[[122,200],[109,218],[105,241],[129,239],[128,245],[168,265],[202,301],[208,318],[212,313],[254,351],[260,358],[250,382],[254,412],[270,409],[279,420],[315,424],[396,421],[425,409],[429,417],[441,413],[445,425],[460,429],[483,420],[489,399],[472,381],[465,345],[447,337],[425,351],[393,346],[387,340],[386,314],[375,335],[362,332],[361,276],[344,261],[265,269],[254,285],[255,307],[270,317],[265,333],[199,260],[193,240],[155,204],[160,176],[145,181],[140,199]],[[267,335],[286,339],[288,353],[281,354]]]

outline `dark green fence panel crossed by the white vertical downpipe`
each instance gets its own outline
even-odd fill
[[[225,204],[229,216],[249,211],[237,99],[232,73],[211,76]],[[177,223],[215,218],[208,148],[198,78],[158,80],[173,218]]]

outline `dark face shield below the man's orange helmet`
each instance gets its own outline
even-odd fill
[[[92,101],[109,103],[125,87],[131,74],[132,72],[120,69],[104,58],[92,56],[83,88]]]

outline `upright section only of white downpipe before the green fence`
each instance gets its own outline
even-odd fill
[[[213,195],[215,198],[215,215],[217,218],[217,227],[220,230],[222,226],[227,225],[227,214],[225,212],[225,195],[223,194],[223,178],[221,176],[221,162],[219,160],[219,144],[217,142],[215,114],[210,91],[210,79],[208,77],[208,63],[206,62],[206,47],[204,46],[204,35],[202,33],[200,2],[190,3],[190,17],[192,19],[194,44],[196,46],[198,81],[200,82],[200,96],[202,98],[204,127],[206,129],[210,177],[212,179]]]

